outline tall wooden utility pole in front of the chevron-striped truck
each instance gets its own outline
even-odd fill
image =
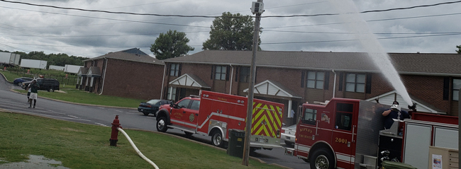
[[[243,161],[242,165],[248,166],[248,158],[250,157],[250,136],[251,136],[251,122],[252,122],[252,112],[253,112],[253,95],[255,91],[255,76],[256,76],[256,52],[257,44],[260,37],[260,21],[261,13],[264,11],[264,4],[262,0],[257,0],[257,2],[252,2],[252,13],[256,13],[255,18],[255,30],[253,31],[253,50],[252,50],[252,59],[250,67],[250,84],[248,84],[248,107],[247,107],[247,122],[245,126],[245,143],[243,144]]]

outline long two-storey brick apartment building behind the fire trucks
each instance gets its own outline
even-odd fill
[[[389,57],[418,111],[457,115],[460,54],[390,53]],[[251,58],[251,51],[205,50],[165,59],[162,98],[179,100],[202,90],[245,96]],[[333,97],[408,105],[366,53],[262,51],[257,52],[256,65],[255,98],[283,103],[287,124],[294,123],[290,110]]]

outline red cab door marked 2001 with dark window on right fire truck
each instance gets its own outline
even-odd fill
[[[335,105],[335,121],[331,146],[335,150],[338,167],[354,168],[355,139],[357,139],[358,103]]]

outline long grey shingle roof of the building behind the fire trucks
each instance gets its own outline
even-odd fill
[[[257,66],[378,72],[367,53],[361,52],[260,51],[256,56]],[[204,50],[163,61],[250,66],[251,57],[251,51]],[[461,54],[389,53],[389,57],[401,74],[461,76]]]

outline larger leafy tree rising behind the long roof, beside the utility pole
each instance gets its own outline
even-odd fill
[[[203,43],[201,49],[252,50],[254,29],[255,23],[251,16],[224,12],[221,17],[214,19],[210,38]],[[260,44],[261,40],[257,45],[259,50]]]

